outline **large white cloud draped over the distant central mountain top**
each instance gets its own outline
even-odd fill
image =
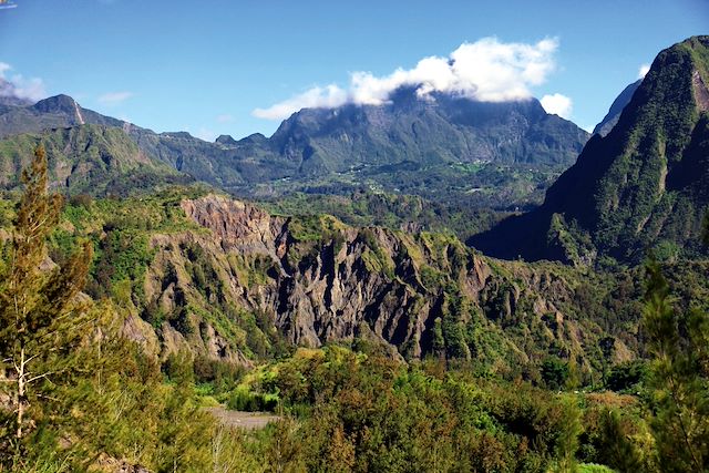
[[[525,100],[554,71],[555,39],[535,44],[503,43],[484,38],[463,43],[448,58],[424,58],[413,69],[399,68],[384,76],[354,72],[347,90],[335,84],[316,86],[268,109],[256,109],[260,119],[282,120],[305,107],[336,107],[345,103],[380,105],[401,86],[417,89],[421,99],[448,92],[484,102]]]

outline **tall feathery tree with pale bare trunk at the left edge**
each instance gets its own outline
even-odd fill
[[[59,222],[62,198],[47,191],[43,146],[37,148],[22,182],[25,189],[13,223],[10,260],[0,275],[0,389],[10,407],[2,419],[0,456],[13,469],[19,467],[23,441],[37,423],[43,387],[62,376],[66,369],[62,361],[90,321],[78,296],[92,257],[91,244],[84,241],[63,267],[48,261],[45,241]]]

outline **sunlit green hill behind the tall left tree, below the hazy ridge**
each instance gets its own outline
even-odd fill
[[[80,125],[0,141],[0,187],[19,185],[34,148],[45,147],[51,187],[70,194],[126,195],[193,178],[146,156],[120,128]]]

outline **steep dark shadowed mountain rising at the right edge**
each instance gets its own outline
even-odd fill
[[[617,125],[592,137],[544,205],[471,243],[492,255],[628,261],[698,250],[709,205],[709,37],[658,54]]]

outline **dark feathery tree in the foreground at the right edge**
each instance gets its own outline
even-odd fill
[[[709,469],[709,317],[678,313],[657,263],[647,266],[644,327],[654,357],[650,422],[661,471]]]

